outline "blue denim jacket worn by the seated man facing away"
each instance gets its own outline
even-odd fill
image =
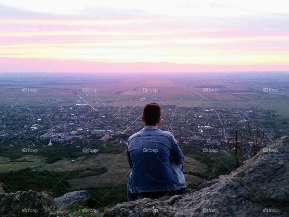
[[[128,140],[127,159],[132,169],[128,179],[132,193],[186,188],[184,155],[168,131],[145,126],[133,134]]]

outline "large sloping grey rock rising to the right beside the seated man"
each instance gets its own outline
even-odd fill
[[[231,174],[191,194],[144,198],[107,209],[104,217],[289,216],[289,137],[269,144]],[[153,208],[154,207],[154,208]]]

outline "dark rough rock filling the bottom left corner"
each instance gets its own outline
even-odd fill
[[[0,193],[0,204],[1,217],[56,217],[53,199],[45,192]]]

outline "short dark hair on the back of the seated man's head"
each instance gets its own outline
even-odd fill
[[[142,115],[145,125],[155,126],[160,119],[161,108],[156,102],[148,103],[144,106]]]

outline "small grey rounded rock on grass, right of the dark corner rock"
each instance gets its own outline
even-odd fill
[[[72,191],[54,198],[54,207],[57,209],[72,205],[95,207],[97,203],[98,201],[91,197],[86,190]]]

